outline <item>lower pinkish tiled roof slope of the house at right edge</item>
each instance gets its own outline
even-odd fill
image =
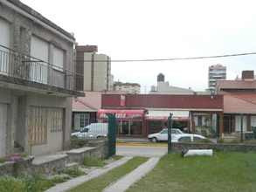
[[[256,102],[246,98],[246,95],[235,95],[232,93],[221,92],[224,95],[224,113],[256,113]]]

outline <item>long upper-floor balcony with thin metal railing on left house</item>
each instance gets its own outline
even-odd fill
[[[82,75],[0,45],[0,86],[63,96],[84,96],[75,90]]]

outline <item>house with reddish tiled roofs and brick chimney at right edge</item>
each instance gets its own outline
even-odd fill
[[[224,133],[253,131],[256,127],[256,80],[253,71],[243,71],[241,78],[218,80],[216,93],[224,95]]]

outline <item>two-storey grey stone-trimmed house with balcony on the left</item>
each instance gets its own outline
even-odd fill
[[[0,1],[0,157],[41,155],[71,135],[75,38],[17,0]]]

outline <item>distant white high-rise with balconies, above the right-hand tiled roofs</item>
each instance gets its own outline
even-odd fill
[[[215,85],[218,79],[226,79],[226,67],[223,65],[211,65],[208,71],[208,90],[215,93]]]

